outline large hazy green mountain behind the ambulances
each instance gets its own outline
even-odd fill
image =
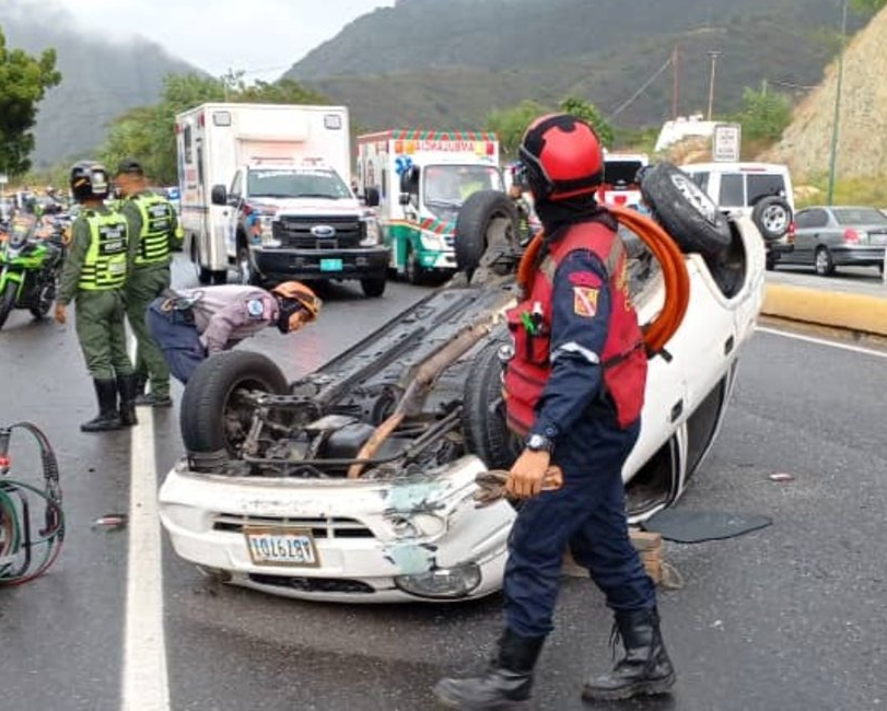
[[[851,30],[865,20],[853,16]],[[712,63],[715,115],[765,80],[803,95],[821,81],[839,26],[836,0],[399,0],[284,77],[349,105],[373,130],[474,127],[491,109],[567,95],[616,126],[660,126],[675,96],[680,114],[707,110]]]

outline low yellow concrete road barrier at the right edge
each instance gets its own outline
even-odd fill
[[[806,324],[887,336],[887,299],[768,283],[761,313]]]

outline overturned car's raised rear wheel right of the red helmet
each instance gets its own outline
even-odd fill
[[[658,163],[641,178],[644,201],[684,252],[716,257],[733,235],[724,215],[693,178],[673,165]]]

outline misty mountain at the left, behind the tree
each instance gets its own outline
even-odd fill
[[[121,9],[121,11],[124,11]],[[0,0],[0,30],[10,48],[36,54],[54,47],[62,81],[47,92],[35,130],[35,168],[87,156],[107,124],[133,106],[156,103],[163,77],[197,71],[143,39],[114,43],[72,30],[70,14],[45,5]]]

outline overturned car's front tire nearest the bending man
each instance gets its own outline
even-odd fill
[[[266,356],[226,351],[203,361],[182,395],[179,428],[189,454],[237,454],[252,422],[252,411],[237,411],[238,391],[288,392],[287,378]]]

